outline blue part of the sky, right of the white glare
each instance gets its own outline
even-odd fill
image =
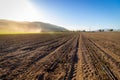
[[[48,22],[67,29],[120,28],[120,0],[33,0]]]

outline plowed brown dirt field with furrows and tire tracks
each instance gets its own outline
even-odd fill
[[[0,79],[120,80],[120,33],[0,35]]]

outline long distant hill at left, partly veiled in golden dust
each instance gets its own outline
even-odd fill
[[[43,22],[16,22],[10,20],[0,20],[0,33],[38,33],[55,31],[67,31],[67,29]]]

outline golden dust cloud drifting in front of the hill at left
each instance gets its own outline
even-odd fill
[[[41,32],[41,29],[35,28],[34,25],[29,24],[27,22],[24,23],[17,23],[17,22],[10,22],[10,21],[0,21],[0,32]]]

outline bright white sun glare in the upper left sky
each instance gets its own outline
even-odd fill
[[[0,18],[15,21],[37,21],[39,11],[31,0],[0,0]],[[4,9],[3,9],[4,8]]]

